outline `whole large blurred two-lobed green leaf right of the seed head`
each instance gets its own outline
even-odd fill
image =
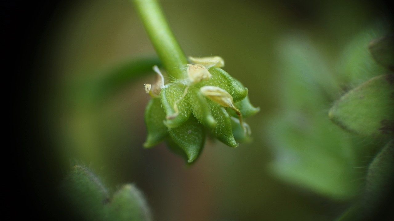
[[[358,158],[351,138],[324,111],[340,88],[327,59],[308,38],[280,42],[277,88],[281,112],[266,125],[273,147],[271,171],[282,180],[333,199],[358,191]]]

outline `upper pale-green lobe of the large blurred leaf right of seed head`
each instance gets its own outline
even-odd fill
[[[322,109],[340,91],[337,79],[325,55],[306,36],[290,35],[279,42],[280,86],[286,107]]]

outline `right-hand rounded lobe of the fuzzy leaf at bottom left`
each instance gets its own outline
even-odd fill
[[[134,184],[125,184],[113,194],[107,220],[151,221],[151,211],[143,194]]]

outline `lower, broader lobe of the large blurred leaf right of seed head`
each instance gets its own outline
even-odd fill
[[[275,147],[275,175],[334,199],[349,199],[359,191],[351,140],[322,113],[288,111],[267,129]]]

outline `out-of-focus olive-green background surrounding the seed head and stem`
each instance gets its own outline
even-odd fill
[[[164,144],[143,149],[143,84],[153,73],[95,102],[91,94],[113,67],[155,57],[132,3],[62,3],[37,62],[50,73],[37,134],[50,146],[43,157],[51,184],[82,162],[113,190],[136,184],[157,221],[338,217],[361,192],[381,140],[342,131],[327,112],[346,90],[384,72],[364,61],[389,12],[356,0],[161,3],[186,55],[223,57],[224,70],[249,89],[261,109],[246,119],[253,140],[235,149],[208,140],[191,167]]]

